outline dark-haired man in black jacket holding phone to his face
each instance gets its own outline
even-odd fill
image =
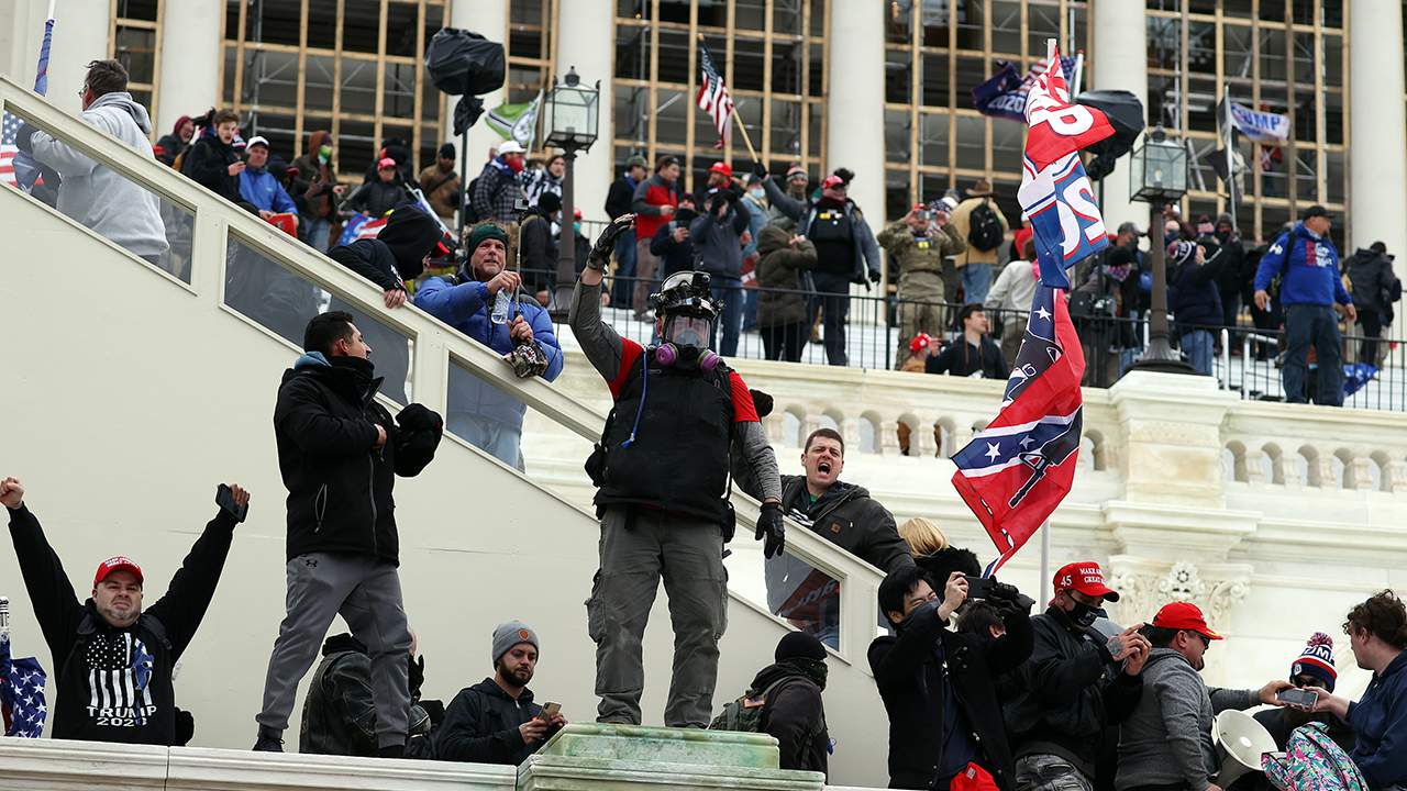
[[[1006,633],[989,639],[947,629],[967,598],[961,571],[944,580],[941,600],[919,566],[900,566],[879,583],[879,609],[896,635],[875,638],[868,653],[889,714],[891,788],[948,788],[971,771],[978,783],[1013,790],[996,678],[1031,656],[1030,600],[992,580],[986,601]]]

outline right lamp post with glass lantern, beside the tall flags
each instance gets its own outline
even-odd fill
[[[1152,310],[1148,348],[1138,362],[1138,370],[1161,373],[1196,373],[1172,349],[1168,332],[1168,265],[1164,243],[1162,207],[1182,198],[1188,191],[1188,151],[1168,139],[1162,127],[1154,128],[1142,146],[1134,149],[1128,169],[1130,198],[1148,204],[1148,242],[1152,248]]]

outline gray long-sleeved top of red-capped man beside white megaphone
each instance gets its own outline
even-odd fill
[[[1138,707],[1119,728],[1114,788],[1179,785],[1204,791],[1220,768],[1211,719],[1261,705],[1258,690],[1209,690],[1202,674],[1172,649],[1152,649]]]

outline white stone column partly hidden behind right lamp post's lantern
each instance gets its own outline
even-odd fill
[[[1147,110],[1148,30],[1144,21],[1144,4],[1104,0],[1093,6],[1093,18],[1089,24],[1095,34],[1090,52],[1095,68],[1089,75],[1090,79],[1085,80],[1085,87],[1131,91]],[[1104,227],[1110,232],[1119,228],[1120,222],[1134,221],[1140,228],[1148,224],[1148,208],[1128,200],[1127,155],[1119,159],[1113,173],[1104,176],[1100,190]]]

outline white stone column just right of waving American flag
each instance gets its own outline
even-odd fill
[[[820,177],[850,167],[850,197],[870,227],[884,228],[884,20],[888,3],[832,3],[826,68],[826,162]]]

